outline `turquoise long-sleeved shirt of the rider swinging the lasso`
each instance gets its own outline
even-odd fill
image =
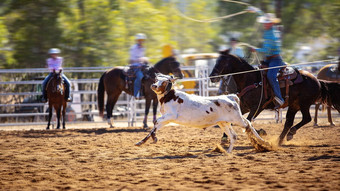
[[[281,52],[281,37],[280,31],[275,26],[269,30],[265,30],[263,33],[263,47],[257,48],[259,52],[265,53],[266,57],[280,54]]]

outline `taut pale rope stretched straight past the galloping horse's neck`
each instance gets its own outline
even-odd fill
[[[247,70],[247,71],[242,71],[242,72],[221,74],[221,75],[212,76],[212,77],[195,78],[195,79],[178,79],[177,81],[179,81],[179,82],[182,82],[182,81],[199,81],[199,80],[206,80],[206,79],[210,79],[210,78],[219,78],[219,77],[224,77],[224,76],[233,76],[233,75],[238,75],[238,74],[246,74],[246,73],[251,73],[251,72],[270,70],[270,69],[274,69],[274,68],[283,68],[283,67],[287,67],[287,66],[300,66],[300,65],[317,64],[317,63],[322,63],[322,62],[335,62],[335,61],[336,60],[334,60],[334,59],[328,59],[328,60],[319,60],[319,61],[312,61],[312,62],[301,62],[301,63],[298,63],[298,64],[290,64],[290,65],[284,65],[284,66],[275,66],[275,67],[269,67],[269,68]]]

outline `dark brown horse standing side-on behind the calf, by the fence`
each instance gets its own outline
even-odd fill
[[[178,78],[183,78],[183,74],[180,67],[180,63],[175,59],[175,57],[167,57],[156,63],[153,67],[150,67],[146,71],[146,75],[142,80],[142,86],[144,87],[145,95],[145,117],[143,120],[144,127],[147,128],[147,116],[149,114],[149,109],[151,105],[151,100],[153,101],[153,119],[156,120],[158,100],[157,95],[150,88],[151,84],[154,83],[156,78],[156,73],[162,74],[174,74]],[[104,92],[107,93],[106,101],[106,113],[109,125],[112,127],[112,110],[118,100],[119,95],[122,91],[133,95],[130,89],[126,88],[125,83],[126,75],[122,68],[112,68],[106,71],[99,80],[98,86],[98,109],[99,115],[104,114]]]

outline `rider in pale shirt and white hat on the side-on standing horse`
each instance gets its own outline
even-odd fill
[[[133,95],[135,98],[141,99],[140,90],[142,87],[142,79],[144,77],[142,69],[147,64],[147,59],[145,58],[145,47],[143,46],[143,43],[146,40],[146,35],[138,33],[135,38],[136,44],[130,48],[130,68],[134,70],[136,75]]]

